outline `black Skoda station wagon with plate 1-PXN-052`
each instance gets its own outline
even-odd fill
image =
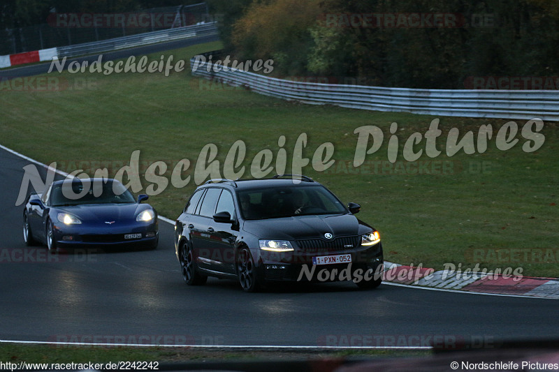
[[[379,232],[326,187],[297,174],[210,180],[175,223],[175,253],[188,285],[208,276],[254,292],[277,281],[382,282]]]

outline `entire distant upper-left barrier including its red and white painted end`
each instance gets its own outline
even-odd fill
[[[0,68],[39,61],[51,61],[53,57],[78,57],[88,54],[112,52],[114,50],[138,47],[141,45],[193,38],[194,36],[210,36],[216,34],[217,26],[215,22],[196,24],[187,27],[177,27],[175,29],[165,29],[161,31],[147,32],[145,34],[124,36],[122,38],[95,41],[93,43],[76,44],[68,47],[54,47],[50,49],[36,50],[33,52],[0,56]]]

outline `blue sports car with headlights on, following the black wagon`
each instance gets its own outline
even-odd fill
[[[55,181],[43,193],[31,193],[23,212],[23,237],[31,246],[131,245],[157,248],[157,211],[142,204],[115,179]]]

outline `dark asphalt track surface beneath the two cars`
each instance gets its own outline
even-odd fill
[[[247,294],[233,281],[211,278],[189,287],[175,258],[173,225],[163,221],[155,251],[51,256],[22,239],[23,206],[15,201],[28,164],[0,150],[1,340],[370,346],[436,337],[450,343],[553,338],[559,329],[557,301],[550,299],[384,284],[361,291],[353,283]]]

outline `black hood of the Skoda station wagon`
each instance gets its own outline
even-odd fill
[[[328,214],[245,221],[244,230],[260,239],[324,239],[326,232],[334,238],[358,235],[360,225],[351,214]]]

